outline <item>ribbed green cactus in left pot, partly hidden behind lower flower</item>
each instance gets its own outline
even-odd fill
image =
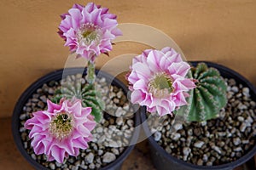
[[[102,103],[101,94],[96,92],[95,85],[81,81],[82,75],[67,77],[66,82],[62,82],[61,89],[55,92],[54,102],[58,103],[61,98],[81,99],[84,107],[91,107],[91,115],[95,117],[96,122],[102,119]]]

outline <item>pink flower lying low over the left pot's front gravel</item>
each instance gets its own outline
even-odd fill
[[[61,99],[59,105],[48,100],[47,105],[47,111],[32,113],[25,127],[31,130],[29,138],[37,155],[45,154],[49,161],[62,163],[68,155],[78,156],[79,149],[88,148],[96,122],[90,107],[82,107],[80,100]]]

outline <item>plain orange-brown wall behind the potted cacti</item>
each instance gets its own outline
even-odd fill
[[[238,71],[256,85],[256,1],[94,1],[118,15],[119,23],[140,23],[172,37],[188,60],[208,60]],[[65,66],[68,49],[56,34],[60,14],[87,1],[2,0],[0,5],[0,117],[11,116],[20,94],[39,77]],[[148,48],[120,42],[111,57]]]

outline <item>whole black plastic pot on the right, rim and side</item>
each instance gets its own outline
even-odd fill
[[[192,61],[190,62],[192,65],[196,65],[197,63],[205,62],[209,67],[214,67],[218,69],[222,77],[225,78],[233,78],[236,80],[236,83],[242,84],[244,87],[250,88],[251,98],[256,101],[256,88],[253,87],[252,83],[248,82],[246,78],[242,77],[236,71],[232,71],[229,68],[218,65],[212,62],[207,61]],[[143,108],[141,114],[142,122],[146,120],[146,110]],[[235,167],[240,166],[241,164],[248,161],[256,154],[256,144],[254,145],[253,149],[248,151],[246,155],[242,156],[240,159],[236,161],[232,161],[230,163],[226,163],[224,165],[219,166],[198,166],[193,165],[191,163],[187,163],[185,161],[177,159],[166,152],[159,144],[154,141],[154,138],[150,136],[150,131],[148,128],[147,123],[143,123],[143,129],[148,137],[148,144],[150,146],[150,154],[152,161],[154,163],[154,167],[158,170],[199,170],[199,169],[209,169],[209,170],[231,170]]]

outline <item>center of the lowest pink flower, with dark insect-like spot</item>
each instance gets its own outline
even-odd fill
[[[49,131],[56,139],[64,139],[73,131],[73,118],[67,112],[58,113],[49,123]]]

